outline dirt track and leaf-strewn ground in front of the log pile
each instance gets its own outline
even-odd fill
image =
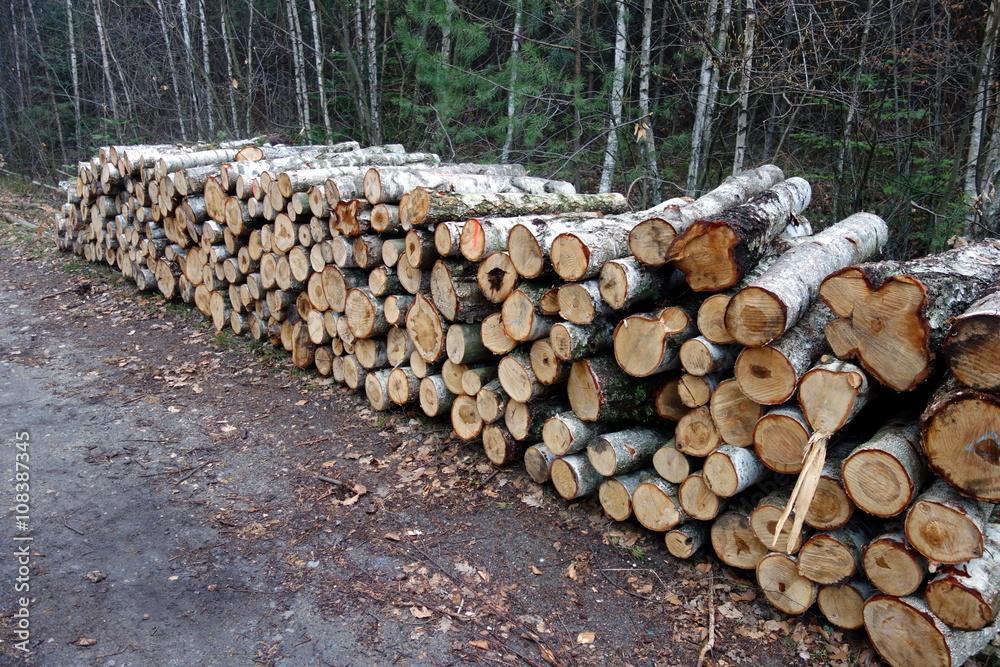
[[[874,661],[710,549],[676,560],[419,409],[373,413],[59,253],[56,206],[0,188],[42,225],[0,221],[0,665],[638,667],[706,644],[720,667]]]

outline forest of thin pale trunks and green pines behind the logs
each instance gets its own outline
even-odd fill
[[[888,252],[998,234],[1000,0],[14,0],[0,162],[106,144],[402,143],[637,207],[773,162]]]

